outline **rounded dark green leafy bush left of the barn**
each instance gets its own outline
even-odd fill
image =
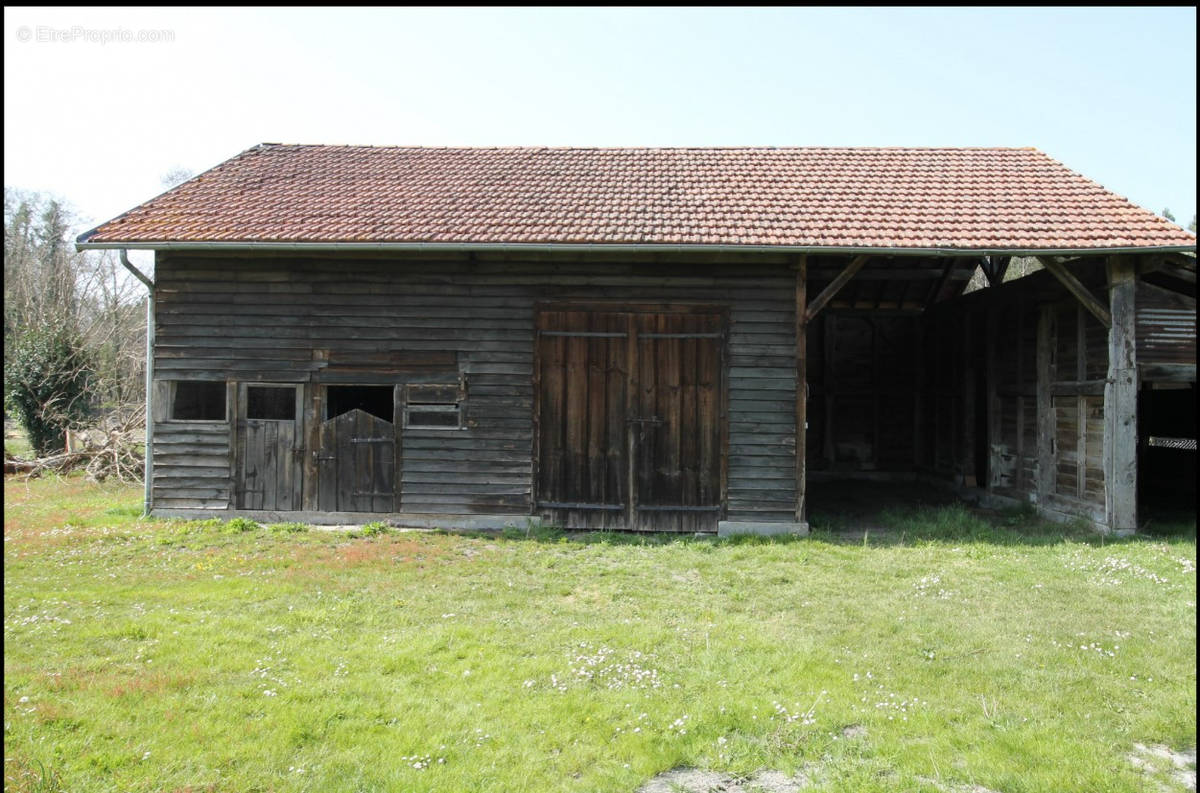
[[[4,362],[5,408],[34,451],[61,451],[68,427],[88,415],[92,365],[82,340],[64,328],[36,328],[12,340]]]

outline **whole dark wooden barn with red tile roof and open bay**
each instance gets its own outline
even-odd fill
[[[905,479],[1102,530],[1151,483],[1194,505],[1195,235],[1034,149],[263,144],[78,247],[155,254],[155,515],[806,531],[824,482]]]

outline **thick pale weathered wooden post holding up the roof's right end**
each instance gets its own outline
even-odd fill
[[[1104,491],[1109,528],[1138,528],[1138,356],[1134,316],[1136,263],[1108,262],[1109,377],[1104,386]]]

